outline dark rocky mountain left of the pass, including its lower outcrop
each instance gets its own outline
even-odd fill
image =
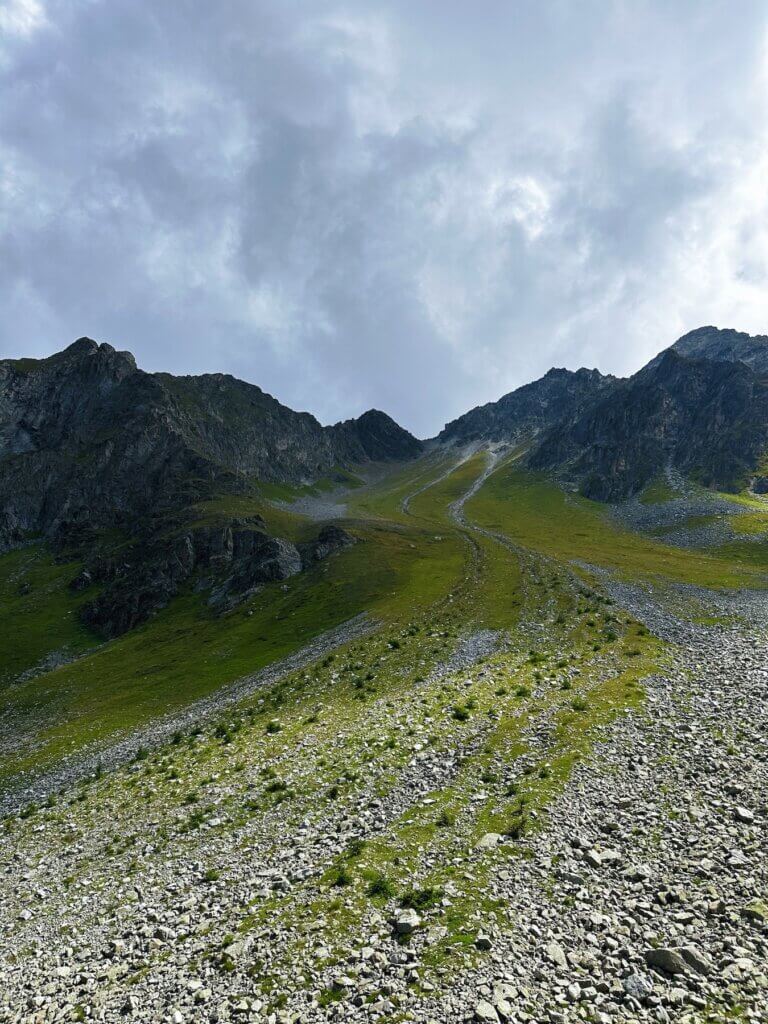
[[[168,603],[194,574],[227,610],[351,543],[330,527],[300,549],[258,515],[201,524],[196,503],[411,459],[421,442],[378,411],[324,427],[223,374],[174,377],[81,338],[0,362],[0,551],[44,537],[86,559],[82,609],[106,636]]]

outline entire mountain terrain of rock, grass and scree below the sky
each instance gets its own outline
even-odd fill
[[[768,416],[705,341],[427,442],[0,364],[0,1020],[760,1020]]]

